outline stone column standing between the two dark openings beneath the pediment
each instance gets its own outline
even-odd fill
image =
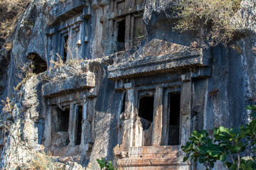
[[[154,96],[154,130],[152,134],[153,146],[161,145],[161,134],[163,128],[163,88],[157,87]]]

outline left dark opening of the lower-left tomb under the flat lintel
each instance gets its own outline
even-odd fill
[[[65,108],[64,111],[60,108],[57,108],[57,113],[58,113],[57,132],[68,132],[70,108]]]

